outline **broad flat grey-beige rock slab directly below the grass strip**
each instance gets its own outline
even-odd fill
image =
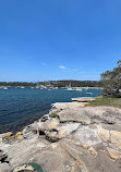
[[[105,123],[120,125],[121,110],[111,107],[84,107],[63,109],[58,112],[61,122],[73,121],[83,124]]]

